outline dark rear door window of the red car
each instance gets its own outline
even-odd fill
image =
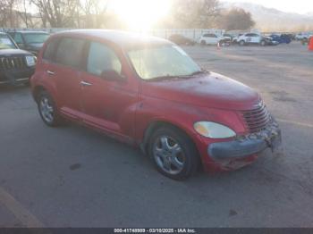
[[[78,38],[62,38],[57,46],[55,63],[73,68],[82,68],[85,40]]]

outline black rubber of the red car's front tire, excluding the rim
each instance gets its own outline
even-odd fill
[[[153,155],[153,146],[154,142],[157,140],[160,136],[168,136],[173,138],[177,143],[182,147],[183,154],[185,156],[185,164],[182,169],[182,171],[176,175],[169,174],[165,171],[163,171],[158,165],[155,160],[155,157]],[[152,162],[154,163],[155,167],[157,168],[157,171],[162,173],[168,178],[171,178],[173,180],[186,180],[188,179],[192,174],[194,174],[199,165],[199,155],[196,147],[194,146],[193,142],[186,136],[184,133],[182,133],[181,130],[177,130],[175,128],[171,127],[162,127],[156,130],[148,143],[148,155]]]

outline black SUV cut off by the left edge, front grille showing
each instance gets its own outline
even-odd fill
[[[27,83],[36,60],[34,54],[19,49],[9,35],[0,32],[0,85]]]

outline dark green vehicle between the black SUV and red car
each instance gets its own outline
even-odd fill
[[[49,34],[45,31],[9,31],[16,44],[24,50],[37,55]]]

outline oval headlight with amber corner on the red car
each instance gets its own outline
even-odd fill
[[[230,128],[212,121],[199,121],[193,125],[193,128],[206,138],[233,138],[236,133]]]

